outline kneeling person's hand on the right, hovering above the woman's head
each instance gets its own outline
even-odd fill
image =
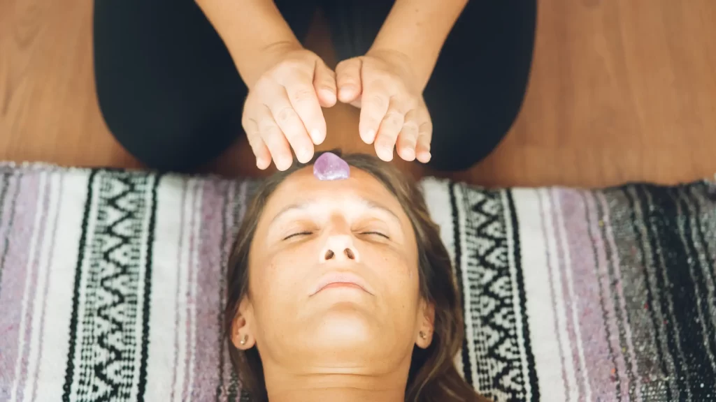
[[[360,107],[358,130],[377,156],[390,161],[393,148],[402,159],[430,161],[432,121],[407,57],[392,50],[371,50],[336,67],[338,99]]]

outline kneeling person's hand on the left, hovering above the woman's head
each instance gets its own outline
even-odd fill
[[[272,53],[276,52],[276,49]],[[241,124],[256,166],[291,167],[293,157],[310,162],[314,145],[326,138],[321,107],[336,104],[336,76],[323,60],[299,46],[271,55],[271,65],[248,90]]]

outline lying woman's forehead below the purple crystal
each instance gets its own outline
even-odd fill
[[[401,220],[407,219],[395,195],[367,172],[351,167],[350,177],[345,180],[322,181],[314,177],[312,167],[304,167],[276,188],[266,203],[262,220],[272,219],[286,206],[316,200],[335,201],[335,205],[339,205],[339,200],[349,204],[379,205],[394,212]]]

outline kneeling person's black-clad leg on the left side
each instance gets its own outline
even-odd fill
[[[312,1],[277,1],[303,38]],[[112,134],[158,170],[192,170],[243,133],[247,89],[193,0],[95,0],[95,80]]]

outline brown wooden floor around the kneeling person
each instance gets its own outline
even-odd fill
[[[521,116],[493,155],[453,177],[580,187],[713,177],[713,21],[713,0],[540,1]],[[0,0],[0,160],[140,167],[102,121],[91,31],[92,0]],[[324,147],[369,150],[353,109],[327,119]],[[243,141],[207,170],[257,174]]]

